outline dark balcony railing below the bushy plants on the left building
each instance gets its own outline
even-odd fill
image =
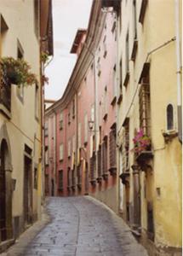
[[[10,118],[11,112],[11,84],[2,76],[0,83],[0,111]]]

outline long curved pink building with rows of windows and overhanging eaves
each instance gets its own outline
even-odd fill
[[[93,195],[117,212],[117,12],[101,3],[77,31],[64,95],[46,110],[45,193]]]

